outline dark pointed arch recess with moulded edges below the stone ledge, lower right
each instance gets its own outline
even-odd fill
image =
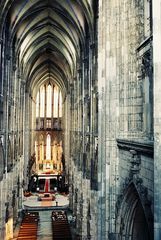
[[[133,182],[129,184],[120,206],[117,232],[119,240],[152,240],[153,230],[150,228],[143,203]]]

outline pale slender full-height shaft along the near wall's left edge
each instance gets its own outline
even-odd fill
[[[106,7],[105,2],[99,2],[98,21],[98,233],[97,239],[105,239],[105,34],[106,34]],[[108,171],[108,170],[107,170]],[[109,178],[108,180],[109,181]],[[106,190],[109,188],[107,187]]]

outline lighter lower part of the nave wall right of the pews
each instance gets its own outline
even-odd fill
[[[91,190],[90,180],[72,167],[70,179],[70,208],[73,212],[75,236],[97,240],[97,191]]]

